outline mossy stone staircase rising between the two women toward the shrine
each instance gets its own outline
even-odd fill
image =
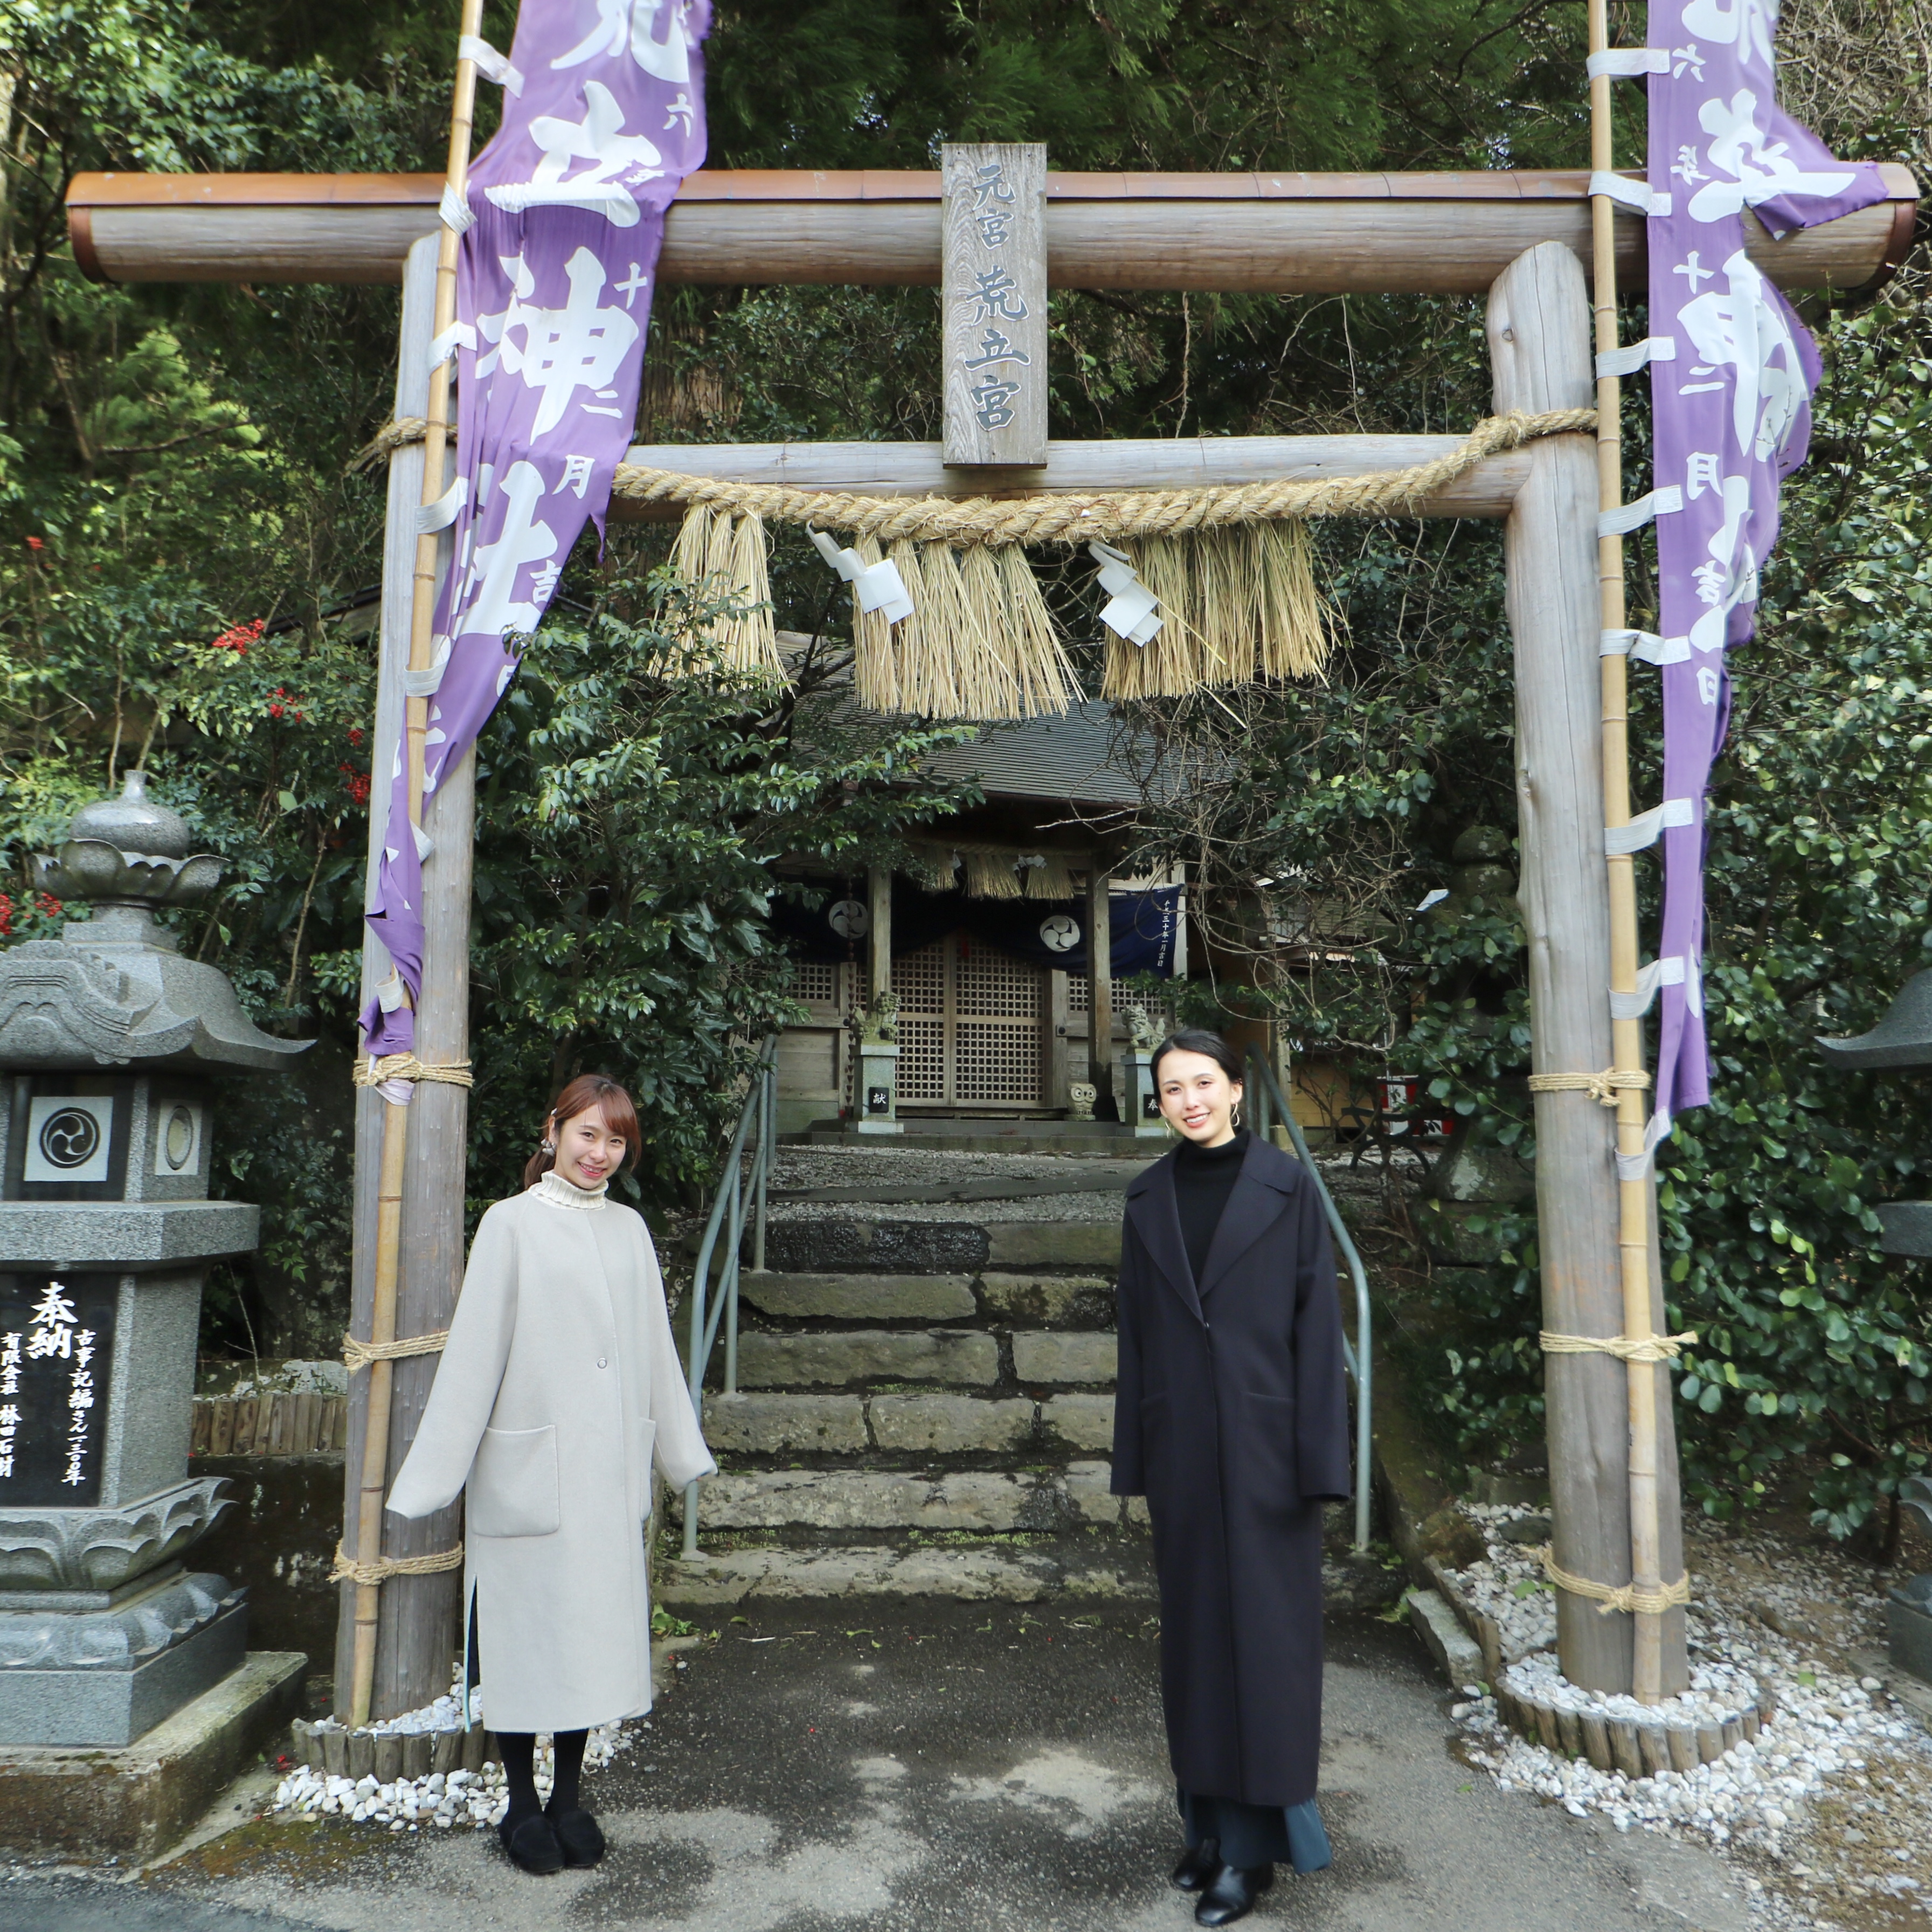
[[[777,1202],[738,1393],[705,1401],[703,1553],[680,1557],[672,1497],[661,1600],[1150,1596],[1146,1505],[1107,1488],[1121,1190],[1146,1159],[1066,1161],[1080,1192],[898,1161],[908,1184],[867,1155],[869,1184]]]

